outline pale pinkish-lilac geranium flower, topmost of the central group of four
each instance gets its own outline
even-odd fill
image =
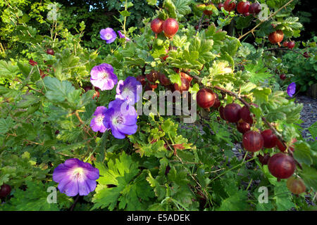
[[[90,75],[92,85],[99,87],[101,91],[113,89],[118,82],[118,77],[113,73],[113,67],[107,63],[94,66]]]

